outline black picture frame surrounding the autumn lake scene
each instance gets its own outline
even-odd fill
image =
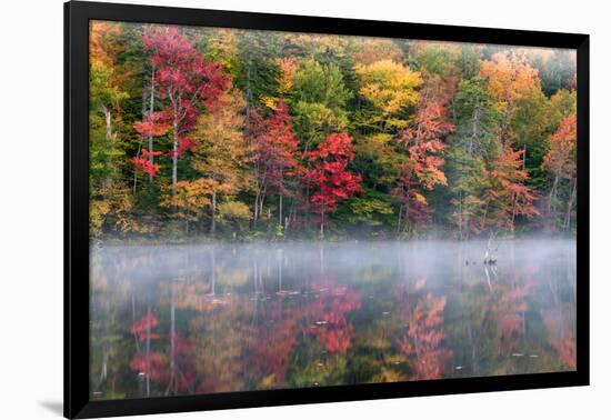
[[[89,20],[555,47],[577,50],[577,371],[187,397],[89,400]],[[589,384],[589,36],[70,1],[64,3],[64,416],[92,418]]]

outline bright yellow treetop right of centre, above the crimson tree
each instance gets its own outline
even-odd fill
[[[418,102],[420,74],[391,60],[357,66],[355,70],[361,86],[359,93],[373,108],[367,123],[382,131],[405,129],[405,111]]]

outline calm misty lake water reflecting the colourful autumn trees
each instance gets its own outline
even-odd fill
[[[91,251],[92,399],[574,370],[574,241]]]

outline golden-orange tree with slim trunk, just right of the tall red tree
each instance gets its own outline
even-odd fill
[[[198,120],[193,133],[197,148],[192,167],[211,183],[210,232],[216,230],[218,194],[233,194],[248,189],[250,174],[247,171],[251,149],[244,136],[246,107],[241,93],[232,90],[220,97],[220,104]]]

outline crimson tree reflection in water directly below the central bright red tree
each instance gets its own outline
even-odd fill
[[[333,279],[327,277],[314,286],[320,290],[319,298],[308,308],[308,316],[315,320],[307,331],[331,353],[348,351],[354,338],[354,327],[345,318],[348,312],[361,307],[361,294],[345,286],[335,287]]]

